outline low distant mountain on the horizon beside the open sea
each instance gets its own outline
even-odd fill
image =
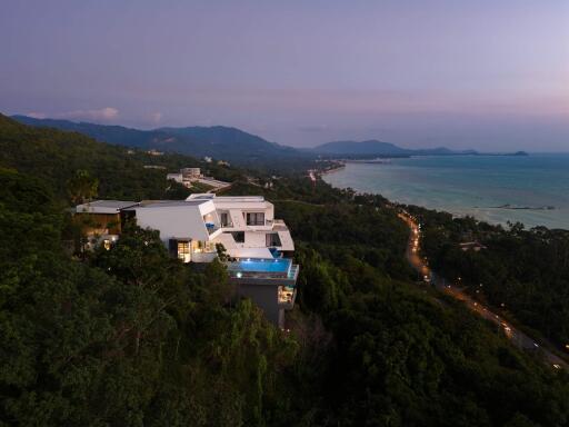
[[[391,142],[370,139],[367,141],[336,141],[315,147],[312,151],[323,155],[343,156],[445,156],[477,155],[475,150],[455,151],[445,147],[430,149],[407,149]]]

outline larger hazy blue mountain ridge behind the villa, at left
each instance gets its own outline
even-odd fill
[[[307,153],[291,147],[269,142],[256,135],[223,126],[159,128],[139,130],[69,120],[36,119],[13,116],[14,120],[33,127],[71,130],[98,141],[141,149],[179,152],[193,157],[213,157],[240,165],[267,162],[274,158],[306,158]]]

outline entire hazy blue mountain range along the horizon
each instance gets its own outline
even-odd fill
[[[445,147],[407,149],[376,139],[366,141],[335,141],[313,148],[296,149],[267,141],[259,136],[244,132],[237,128],[224,126],[169,127],[140,130],[123,126],[73,122],[58,119],[37,119],[28,116],[12,116],[12,119],[33,127],[76,131],[102,142],[146,150],[156,149],[159,151],[178,152],[198,158],[209,156],[243,166],[259,166],[262,163],[298,166],[300,160],[306,161],[317,156],[372,157],[478,153],[475,150],[455,151]],[[274,162],[274,159],[279,159],[279,161]]]

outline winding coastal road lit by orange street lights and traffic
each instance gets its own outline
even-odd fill
[[[421,279],[426,284],[430,284],[441,292],[445,292],[458,300],[463,301],[469,309],[476,311],[482,318],[496,324],[499,328],[503,330],[506,337],[508,337],[516,347],[523,350],[539,352],[543,360],[555,369],[569,369],[569,365],[563,359],[561,359],[553,352],[549,351],[543,346],[540,346],[540,344],[537,340],[532,339],[528,335],[515,328],[512,325],[506,321],[506,319],[501,318],[499,315],[491,311],[488,307],[485,307],[480,302],[472,299],[462,289],[460,289],[460,286],[447,281],[445,280],[445,278],[436,275],[430,269],[425,258],[422,258],[420,255],[420,225],[418,225],[417,221],[407,212],[400,212],[399,218],[401,218],[411,230],[409,244],[407,246],[407,259],[409,264],[413,267],[413,269],[421,276]]]

